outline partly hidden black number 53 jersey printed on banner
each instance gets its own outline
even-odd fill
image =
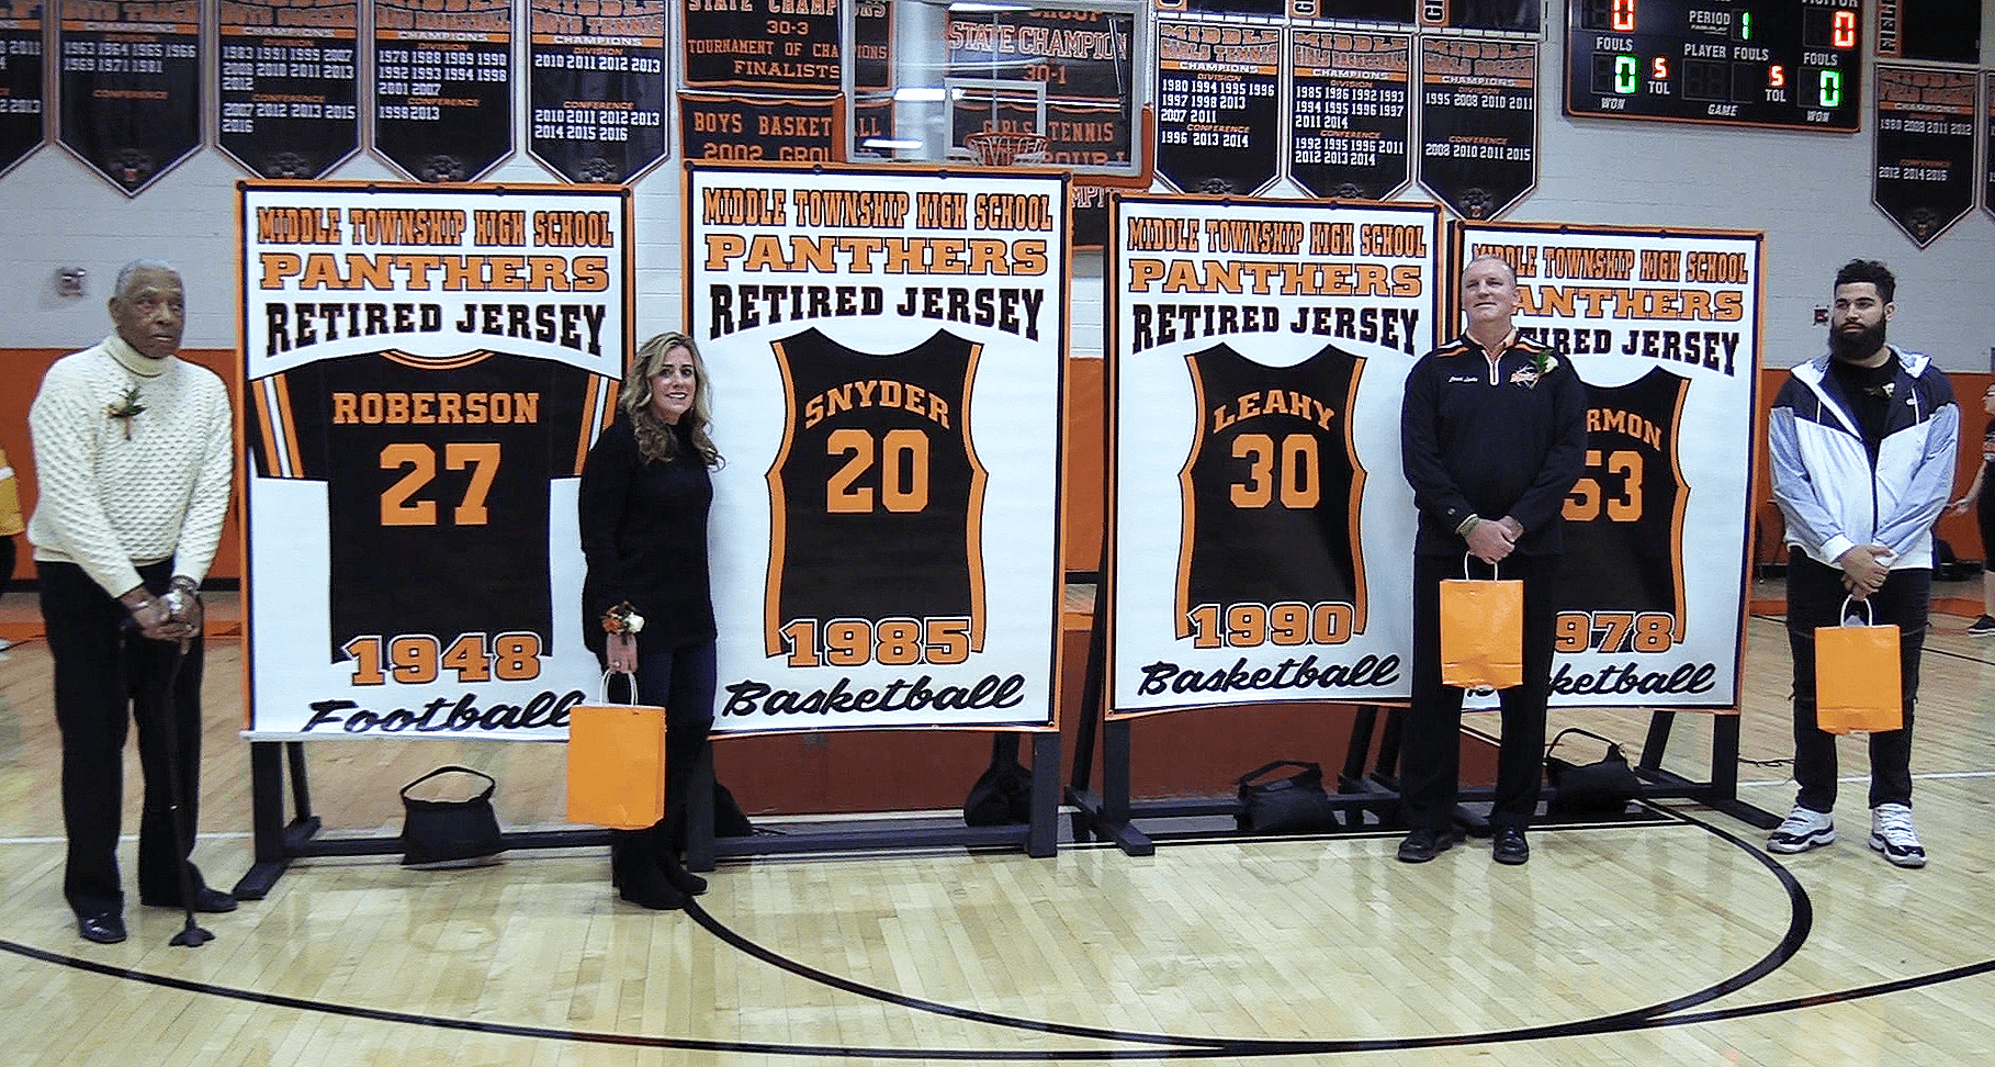
[[[1666,612],[1682,640],[1690,485],[1676,435],[1688,393],[1690,379],[1662,367],[1628,385],[1586,383],[1586,473],[1564,507],[1560,610]]]

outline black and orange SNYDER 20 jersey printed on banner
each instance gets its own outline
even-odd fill
[[[864,353],[816,329],[772,343],[786,423],[768,471],[764,644],[800,620],[968,620],[984,648],[984,465],[970,443],[982,345],[938,331]]]

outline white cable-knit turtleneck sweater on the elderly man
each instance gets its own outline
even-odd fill
[[[134,385],[144,411],[114,419]],[[235,463],[229,395],[213,371],[148,359],[114,333],[48,369],[28,429],[34,558],[74,562],[112,596],[140,584],[138,564],[164,558],[174,574],[207,576]]]

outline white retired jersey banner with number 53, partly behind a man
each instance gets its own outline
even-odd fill
[[[1456,235],[1456,263],[1516,269],[1518,329],[1566,353],[1590,397],[1564,511],[1556,706],[1738,708],[1760,245],[1524,223]]]

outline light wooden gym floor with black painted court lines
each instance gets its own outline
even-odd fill
[[[612,899],[604,850],[463,872],[307,860],[267,899],[203,915],[215,939],[200,949],[168,945],[178,911],[136,903],[126,943],[76,935],[48,656],[30,640],[0,654],[0,1067],[1981,1065],[1995,642],[1959,616],[1935,624],[1917,872],[1865,848],[1865,760],[1847,740],[1841,838],[1805,856],[1676,804],[1640,826],[1540,830],[1524,868],[1474,840],[1396,864],[1393,834],[1165,842],[1141,860],[1073,844],[1051,860],[758,858],[722,866],[684,913]],[[1742,756],[1786,760],[1776,618],[1748,624],[1746,662]],[[249,864],[239,668],[237,642],[215,640],[198,860],[217,886]],[[1638,748],[1646,716],[1562,722]],[[1668,766],[1706,778],[1708,736],[1680,714]],[[561,822],[559,746],[317,742],[311,760],[337,832],[393,834],[395,790],[459,760],[501,780],[509,828]],[[128,770],[130,830],[136,758]],[[1752,804],[1792,802],[1784,766],[1742,780]]]

